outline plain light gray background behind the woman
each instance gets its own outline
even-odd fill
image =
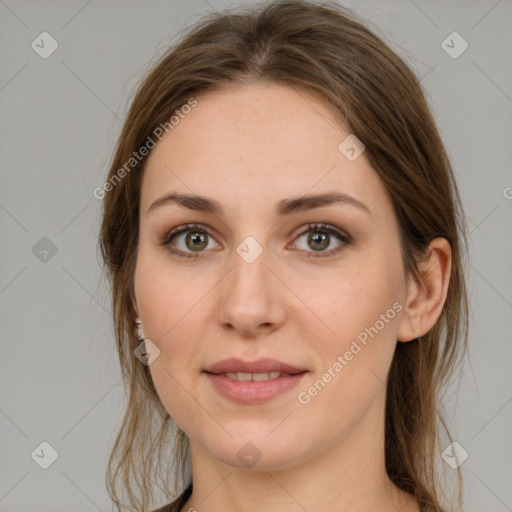
[[[512,510],[512,2],[343,3],[423,77],[452,156],[471,232],[470,361],[449,393],[465,510]],[[112,508],[123,391],[92,191],[150,61],[205,11],[238,4],[0,0],[1,511]],[[31,48],[43,31],[59,45],[47,59]],[[453,31],[469,43],[456,59],[441,47]],[[38,254],[43,237],[54,255]],[[58,452],[46,470],[31,458],[43,441]]]

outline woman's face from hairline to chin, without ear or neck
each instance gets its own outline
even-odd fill
[[[197,99],[142,183],[136,310],[160,350],[149,369],[193,450],[286,468],[383,429],[406,296],[398,225],[364,152],[339,149],[350,132],[320,98],[267,84]],[[170,193],[217,210],[150,209]],[[304,202],[325,194],[345,199]],[[229,358],[302,373],[247,383],[205,371]]]

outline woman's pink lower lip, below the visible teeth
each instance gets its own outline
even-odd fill
[[[276,379],[260,381],[232,380],[225,375],[206,373],[214,389],[222,396],[242,404],[259,404],[290,391],[294,388],[307,372],[298,373]]]

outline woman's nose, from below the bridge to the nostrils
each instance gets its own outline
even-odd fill
[[[284,323],[285,287],[267,263],[265,251],[252,263],[234,254],[233,268],[219,288],[217,321],[224,329],[254,338]]]

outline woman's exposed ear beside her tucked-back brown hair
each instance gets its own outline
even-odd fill
[[[398,327],[398,341],[406,342],[425,335],[441,315],[452,267],[452,251],[448,240],[435,238],[418,263],[421,282],[409,276],[404,312]]]

